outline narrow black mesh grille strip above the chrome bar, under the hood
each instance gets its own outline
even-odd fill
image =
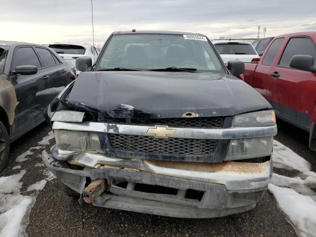
[[[126,123],[126,119],[108,118],[106,122],[122,124]],[[223,127],[223,123],[223,117],[130,119],[130,124],[143,124],[147,126],[167,125],[169,127],[221,128]]]

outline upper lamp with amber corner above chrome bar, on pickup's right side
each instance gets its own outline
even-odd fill
[[[236,115],[233,121],[233,127],[269,126],[275,124],[276,115],[273,110]]]

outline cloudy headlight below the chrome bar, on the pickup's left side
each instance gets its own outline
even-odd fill
[[[102,151],[97,132],[80,132],[55,129],[57,148],[64,151]],[[104,135],[104,134],[103,134]]]

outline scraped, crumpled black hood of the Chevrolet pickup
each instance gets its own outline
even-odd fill
[[[257,91],[230,75],[187,72],[81,73],[68,104],[110,118],[233,116],[272,108]]]

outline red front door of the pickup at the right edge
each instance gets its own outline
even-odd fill
[[[267,99],[280,118],[309,131],[316,104],[316,73],[293,69],[289,65],[297,54],[311,55],[315,63],[316,45],[308,36],[292,36],[286,38],[285,43],[270,71]]]

